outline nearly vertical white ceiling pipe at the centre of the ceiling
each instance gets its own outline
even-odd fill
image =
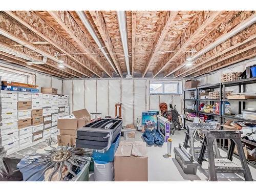
[[[118,18],[119,31],[121,34],[123,53],[124,53],[126,69],[127,69],[126,77],[132,77],[130,72],[130,64],[129,64],[129,52],[128,52],[128,42],[127,42],[128,38],[127,38],[125,11],[117,11],[117,18]]]

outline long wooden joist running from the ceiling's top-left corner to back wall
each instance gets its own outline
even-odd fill
[[[5,11],[5,13],[17,20],[20,24],[27,27],[36,35],[43,38],[45,41],[49,42],[51,45],[62,52],[60,54],[66,54],[69,58],[79,63],[79,65],[85,67],[96,76],[101,78],[100,71],[94,65],[92,65],[86,57],[79,55],[80,51],[78,51],[65,38],[54,31],[33,11],[29,11],[29,14],[24,11]]]

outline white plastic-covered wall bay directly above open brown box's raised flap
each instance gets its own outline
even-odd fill
[[[73,80],[73,110],[84,109],[84,81]]]

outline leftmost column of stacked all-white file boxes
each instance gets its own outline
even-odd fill
[[[5,150],[18,148],[18,93],[1,91],[1,118],[0,136]],[[1,144],[1,143],[0,143]]]

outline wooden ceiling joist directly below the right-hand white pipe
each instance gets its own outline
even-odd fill
[[[255,24],[256,26],[256,24]],[[193,74],[194,72],[197,72],[198,69],[201,69],[205,63],[224,55],[225,53],[234,50],[247,42],[253,40],[256,38],[256,31],[254,30],[255,26],[251,26],[249,29],[246,29],[245,31],[242,31],[241,33],[237,34],[236,36],[233,36],[232,38],[226,40],[219,46],[217,46],[215,49],[210,50],[207,52],[203,57],[203,59],[198,60],[198,62],[195,63],[193,68],[183,69],[182,71],[177,71],[175,73],[175,77],[186,77],[188,75]],[[250,31],[251,30],[251,31]],[[232,39],[239,39],[239,40],[232,40]],[[241,41],[240,41],[241,40]],[[225,49],[226,48],[226,49]],[[241,50],[238,48],[238,51]]]

